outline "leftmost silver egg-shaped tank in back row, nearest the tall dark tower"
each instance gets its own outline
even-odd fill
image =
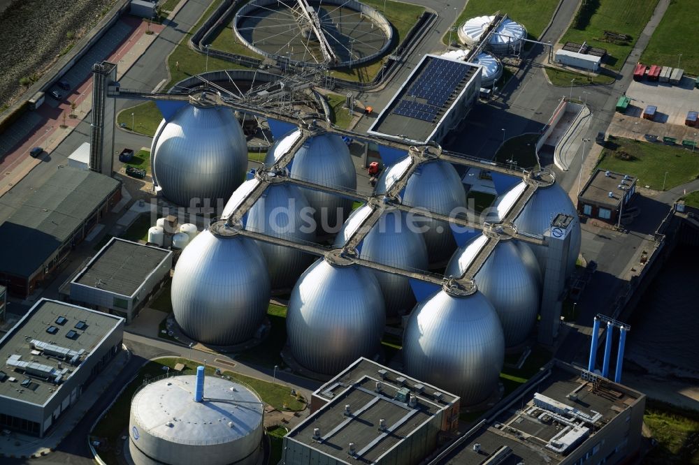
[[[233,110],[187,105],[161,121],[151,145],[155,183],[183,207],[227,200],[245,179],[247,142]],[[201,205],[201,201],[199,202]]]

